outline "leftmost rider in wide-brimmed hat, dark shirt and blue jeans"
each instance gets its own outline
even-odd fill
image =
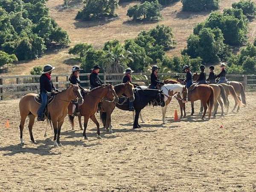
[[[58,90],[54,87],[52,83],[52,70],[54,70],[55,67],[52,67],[51,65],[45,65],[43,73],[40,77],[40,96],[42,100],[42,104],[40,105],[40,108],[38,109],[38,121],[44,121],[44,109],[47,106],[48,102],[48,95],[47,92],[52,92],[52,90],[58,92]]]

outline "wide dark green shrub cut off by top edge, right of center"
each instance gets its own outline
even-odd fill
[[[219,0],[181,0],[183,11],[201,12],[212,11],[219,8]]]

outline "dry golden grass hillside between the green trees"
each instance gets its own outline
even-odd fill
[[[238,0],[221,0],[220,10],[230,7],[232,3]],[[81,8],[81,4],[76,4],[74,8],[63,9],[63,0],[50,0],[47,5],[50,9],[51,16],[55,21],[67,30],[70,35],[73,46],[77,43],[86,42],[93,44],[96,48],[101,48],[102,45],[114,38],[124,42],[127,38],[134,38],[141,30],[151,29],[159,24],[165,24],[172,27],[177,46],[175,49],[170,50],[168,55],[180,54],[180,50],[186,47],[186,39],[192,33],[193,27],[196,23],[203,21],[208,15],[208,12],[203,13],[189,13],[182,12],[182,3],[173,3],[162,10],[163,20],[160,22],[141,22],[134,23],[128,22],[126,16],[129,6],[135,3],[122,3],[117,10],[119,19],[111,22],[81,22],[75,20],[76,13]],[[256,21],[250,23],[250,32],[248,34],[250,41],[256,36]],[[29,74],[31,68],[35,65],[44,65],[52,63],[57,67],[56,73],[67,73],[70,66],[74,63],[70,62],[72,56],[69,55],[68,49],[58,50],[56,52],[47,53],[43,58],[20,62],[15,67],[9,70],[9,73],[3,75],[25,75]]]

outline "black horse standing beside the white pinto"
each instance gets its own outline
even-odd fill
[[[140,111],[145,108],[146,105],[150,104],[153,100],[157,102],[157,105],[160,105],[161,107],[165,106],[164,102],[164,95],[163,91],[160,90],[154,90],[154,89],[138,89],[134,90],[134,108],[135,108],[135,118],[134,118],[134,124],[133,128],[141,128],[139,125],[138,119],[140,115]],[[116,103],[116,107],[128,111],[129,110],[129,104],[128,102],[124,102],[122,98],[120,98],[120,103]]]

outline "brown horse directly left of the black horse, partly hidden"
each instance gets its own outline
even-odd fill
[[[114,90],[116,91],[117,96],[121,96],[125,94],[126,99],[129,99],[129,101],[134,101],[134,92],[133,92],[134,86],[133,84],[127,82],[127,83],[121,83],[114,86]],[[100,112],[100,117],[102,119],[102,123],[105,127],[105,129],[109,132],[113,133],[112,127],[111,127],[111,114],[116,107],[115,103],[113,102],[107,102],[102,101],[101,102],[102,110],[104,112]]]

